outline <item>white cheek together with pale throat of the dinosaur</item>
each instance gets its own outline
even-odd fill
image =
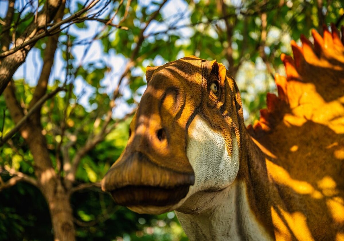
[[[190,240],[271,239],[249,208],[245,183],[235,181],[239,148],[232,136],[228,153],[221,132],[199,116],[190,124],[186,151],[195,184],[176,211]]]

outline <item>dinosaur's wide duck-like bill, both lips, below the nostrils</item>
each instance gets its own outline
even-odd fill
[[[122,206],[139,213],[162,213],[177,205],[194,184],[193,173],[172,171],[134,152],[120,158],[105,175],[102,189]]]

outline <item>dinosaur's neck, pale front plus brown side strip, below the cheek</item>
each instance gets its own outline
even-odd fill
[[[264,170],[264,155],[259,147],[244,131],[243,154],[241,155],[238,178],[232,185],[218,192],[202,192],[192,197],[195,200],[202,198],[210,208],[191,214],[183,210],[176,211],[186,235],[190,240],[271,240],[273,229],[270,212],[262,199],[268,193],[256,193],[258,190],[267,190],[268,178]],[[263,164],[263,165],[261,165]],[[260,189],[258,186],[263,187]],[[199,196],[199,197],[198,197]],[[211,198],[208,198],[211,196]],[[190,200],[190,205],[194,203]],[[187,205],[187,203],[186,203]],[[259,208],[259,210],[258,210]],[[180,212],[183,211],[183,212]],[[256,214],[260,213],[259,216]],[[269,218],[268,222],[262,218]],[[263,222],[264,221],[264,222]],[[261,223],[269,223],[263,226]]]

